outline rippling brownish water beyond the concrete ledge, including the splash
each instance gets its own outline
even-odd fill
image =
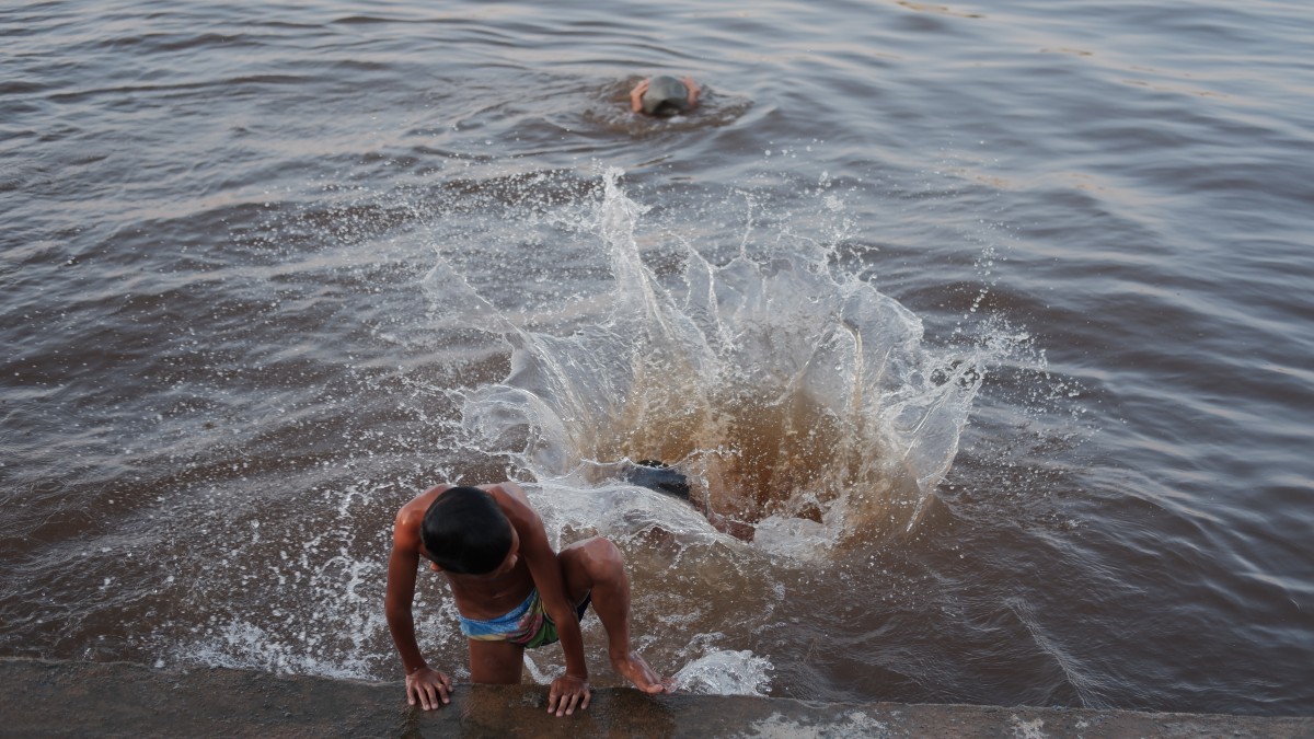
[[[7,5],[0,654],[396,680],[393,513],[510,475],[553,535],[622,544],[687,689],[1314,713],[1311,29],[1300,3]],[[661,71],[704,83],[696,116],[625,110]],[[590,373],[622,320],[696,322],[704,263],[770,309],[657,354],[715,334],[744,375]],[[851,462],[811,391],[716,387],[846,335],[791,318],[834,296],[897,318],[854,337],[920,325],[905,394],[958,388],[909,431],[953,467],[855,472],[875,508],[804,489]],[[719,405],[581,446],[579,417],[510,418],[530,396]],[[608,481],[653,454],[796,526],[742,544]]]

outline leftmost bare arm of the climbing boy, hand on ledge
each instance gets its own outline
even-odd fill
[[[411,617],[411,602],[415,598],[415,569],[419,567],[419,527],[406,521],[406,512],[397,515],[393,527],[393,554],[388,558],[388,594],[384,598],[384,615],[393,643],[401,652],[406,667],[406,700],[410,705],[419,701],[424,710],[436,709],[439,701],[448,703],[452,679],[430,669],[424,655],[415,642],[415,622]]]

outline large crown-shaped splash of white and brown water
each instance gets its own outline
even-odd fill
[[[465,396],[474,443],[583,485],[665,460],[699,509],[774,552],[911,529],[957,452],[979,362],[928,350],[915,314],[833,266],[833,243],[745,235],[723,264],[686,247],[658,279],[635,235],[646,209],[619,176],[556,216],[610,259],[595,321],[553,335],[466,301],[512,346],[510,373]]]

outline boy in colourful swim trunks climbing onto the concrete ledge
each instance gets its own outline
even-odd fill
[[[612,668],[645,693],[670,690],[670,681],[629,646],[629,579],[615,544],[594,536],[558,555],[515,483],[438,485],[397,512],[388,560],[384,611],[406,667],[410,705],[436,709],[452,690],[452,679],[431,669],[415,642],[411,601],[420,558],[452,588],[469,638],[473,682],[516,685],[524,648],[560,639],[566,673],[552,681],[548,713],[589,707],[579,619],[591,601],[607,630]]]

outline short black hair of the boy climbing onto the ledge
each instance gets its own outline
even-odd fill
[[[420,539],[443,569],[485,575],[511,551],[511,522],[489,493],[448,488],[424,512]]]

